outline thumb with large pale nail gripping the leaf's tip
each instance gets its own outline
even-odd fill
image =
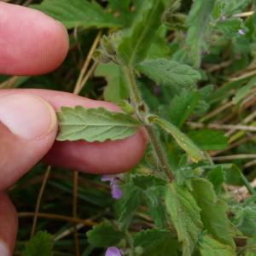
[[[0,97],[0,190],[26,173],[55,141],[54,109],[38,96]]]

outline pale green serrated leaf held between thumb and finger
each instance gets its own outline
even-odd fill
[[[134,134],[139,126],[138,120],[130,115],[113,113],[105,108],[62,107],[58,119],[58,141],[119,140]]]

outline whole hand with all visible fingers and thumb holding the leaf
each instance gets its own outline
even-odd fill
[[[61,23],[33,9],[0,3],[0,73],[51,72],[64,61],[67,50],[67,31]],[[19,105],[20,99],[26,104]],[[126,172],[143,156],[147,143],[143,131],[115,142],[55,142],[58,129],[55,112],[61,106],[77,105],[119,111],[112,103],[60,91],[0,90],[0,254],[4,254],[3,247],[7,250],[3,256],[12,255],[18,229],[15,207],[5,191],[39,160],[80,172],[103,174]],[[12,116],[8,116],[10,108],[20,120],[18,129],[22,136],[15,130]],[[24,119],[29,118],[29,122],[22,120],[24,112],[18,114],[21,108],[28,113]],[[43,113],[46,108],[48,115]],[[33,132],[27,133],[26,128],[31,127]]]

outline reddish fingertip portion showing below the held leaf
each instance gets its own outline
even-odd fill
[[[117,141],[56,142],[44,161],[53,166],[93,174],[127,172],[142,159],[146,146],[147,137],[140,129],[133,136]]]

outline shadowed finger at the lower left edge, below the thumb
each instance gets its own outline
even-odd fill
[[[18,218],[15,207],[9,197],[0,193],[0,255],[13,255],[18,229]]]

